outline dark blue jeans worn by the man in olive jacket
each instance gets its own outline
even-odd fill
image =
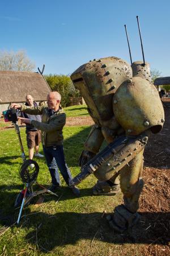
[[[49,168],[50,175],[52,177],[52,184],[53,185],[60,185],[59,180],[59,171],[63,176],[63,179],[66,181],[67,185],[71,185],[71,180],[73,179],[71,176],[71,172],[67,167],[65,156],[63,153],[63,145],[45,147],[44,145],[43,151],[46,159],[47,166]]]

